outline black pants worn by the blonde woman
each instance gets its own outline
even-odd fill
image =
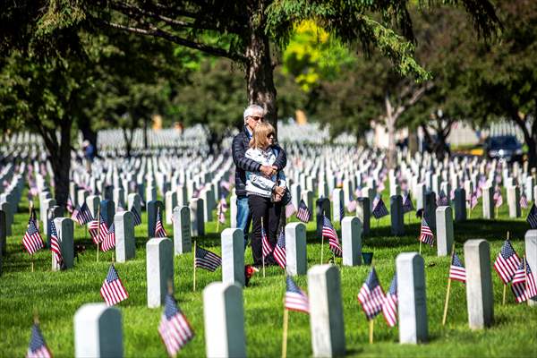
[[[268,235],[268,242],[274,248],[277,243],[277,224],[282,211],[281,203],[270,202],[270,198],[250,195],[248,204],[251,213],[251,253],[253,264],[262,264],[263,247],[261,243],[261,221]]]

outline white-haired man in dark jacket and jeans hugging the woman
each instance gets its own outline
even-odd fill
[[[250,148],[251,133],[257,124],[263,121],[265,110],[258,105],[248,106],[244,110],[243,131],[234,136],[232,145],[233,161],[235,164],[235,193],[237,195],[237,228],[244,233],[244,249],[248,244],[248,232],[250,231],[251,215],[248,207],[248,197],[246,196],[246,172],[260,172],[263,175],[271,176],[278,170],[286,167],[286,152],[279,146],[277,149],[277,159],[274,166],[261,166],[259,163],[244,157],[246,150]]]

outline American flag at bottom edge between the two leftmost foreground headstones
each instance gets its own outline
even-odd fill
[[[183,311],[177,307],[175,298],[166,294],[164,312],[158,325],[158,334],[162,338],[170,357],[175,357],[181,348],[192,340],[194,331],[184,317]]]

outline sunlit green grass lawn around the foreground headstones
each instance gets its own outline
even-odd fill
[[[23,193],[25,198],[25,192]],[[505,192],[504,192],[505,197]],[[384,194],[389,203],[388,194]],[[527,214],[527,209],[524,217]],[[4,257],[0,277],[0,356],[22,356],[30,341],[33,312],[38,311],[40,327],[51,352],[56,357],[74,355],[73,315],[84,303],[103,302],[99,288],[107,276],[112,253],[100,253],[96,262],[96,248],[84,228],[76,226],[75,245],[84,244],[86,251],[75,267],[63,272],[51,271],[51,253],[38,251],[35,255],[35,272],[30,272],[30,255],[22,251],[21,239],[28,222],[28,201],[23,199],[15,216],[13,235],[7,238],[7,255]],[[513,246],[522,256],[524,233],[529,228],[524,218],[509,219],[507,205],[499,211],[497,221],[482,220],[481,200],[473,210],[472,218],[464,224],[455,225],[456,252],[464,260],[462,245],[470,238],[485,238],[490,242],[490,259],[495,259],[505,239],[511,233]],[[227,224],[229,226],[229,211]],[[371,219],[372,233],[363,238],[362,251],[374,252],[373,263],[379,280],[388,289],[395,270],[396,255],[403,251],[418,251],[419,219],[405,216],[405,236],[393,237],[389,233],[389,216],[377,222]],[[213,215],[216,217],[216,215]],[[146,213],[142,222],[147,223]],[[41,223],[39,223],[41,225]],[[315,235],[315,224],[309,223],[308,267],[320,263],[320,237]],[[220,253],[219,234],[216,223],[206,226],[209,234],[198,244]],[[339,226],[336,224],[338,234]],[[223,228],[220,227],[220,231]],[[168,237],[173,237],[172,227],[166,226]],[[41,230],[42,232],[42,230]],[[145,224],[136,227],[136,259],[116,264],[117,272],[124,282],[129,298],[120,303],[124,324],[124,355],[129,357],[165,357],[166,350],[158,336],[158,322],[162,309],[147,308]],[[328,245],[324,245],[324,257],[328,260]],[[342,299],[344,306],[345,340],[348,356],[456,356],[456,357],[503,357],[537,354],[537,308],[517,304],[507,289],[507,304],[501,305],[502,285],[496,272],[492,272],[494,285],[494,318],[492,328],[471,331],[466,313],[465,285],[454,281],[447,325],[441,325],[447,289],[449,258],[438,258],[436,247],[422,247],[425,259],[427,288],[427,311],[429,315],[430,340],[424,345],[399,345],[397,328],[388,328],[382,315],[375,320],[373,345],[368,343],[368,323],[356,295],[370,267],[342,268]],[[246,251],[247,263],[251,262],[251,250]],[[192,324],[196,337],[180,352],[180,356],[204,356],[203,307],[201,292],[204,286],[221,278],[221,268],[216,272],[197,270],[197,291],[192,292],[192,253],[175,256],[175,297]],[[307,277],[296,277],[296,283],[307,292]],[[267,268],[267,277],[259,272],[251,280],[251,286],[243,291],[246,350],[251,357],[279,357],[281,354],[283,296],[285,276],[282,269]],[[309,317],[300,312],[290,312],[288,351],[289,357],[311,356],[311,333]]]

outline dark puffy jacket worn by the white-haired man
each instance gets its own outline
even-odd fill
[[[234,136],[231,149],[235,164],[235,192],[237,196],[246,195],[246,172],[260,172],[261,165],[258,162],[244,157],[249,148],[250,138],[248,130],[244,126],[243,131]],[[277,170],[282,170],[287,164],[286,152],[278,145],[275,145],[274,148],[277,149],[274,165],[277,166]]]

